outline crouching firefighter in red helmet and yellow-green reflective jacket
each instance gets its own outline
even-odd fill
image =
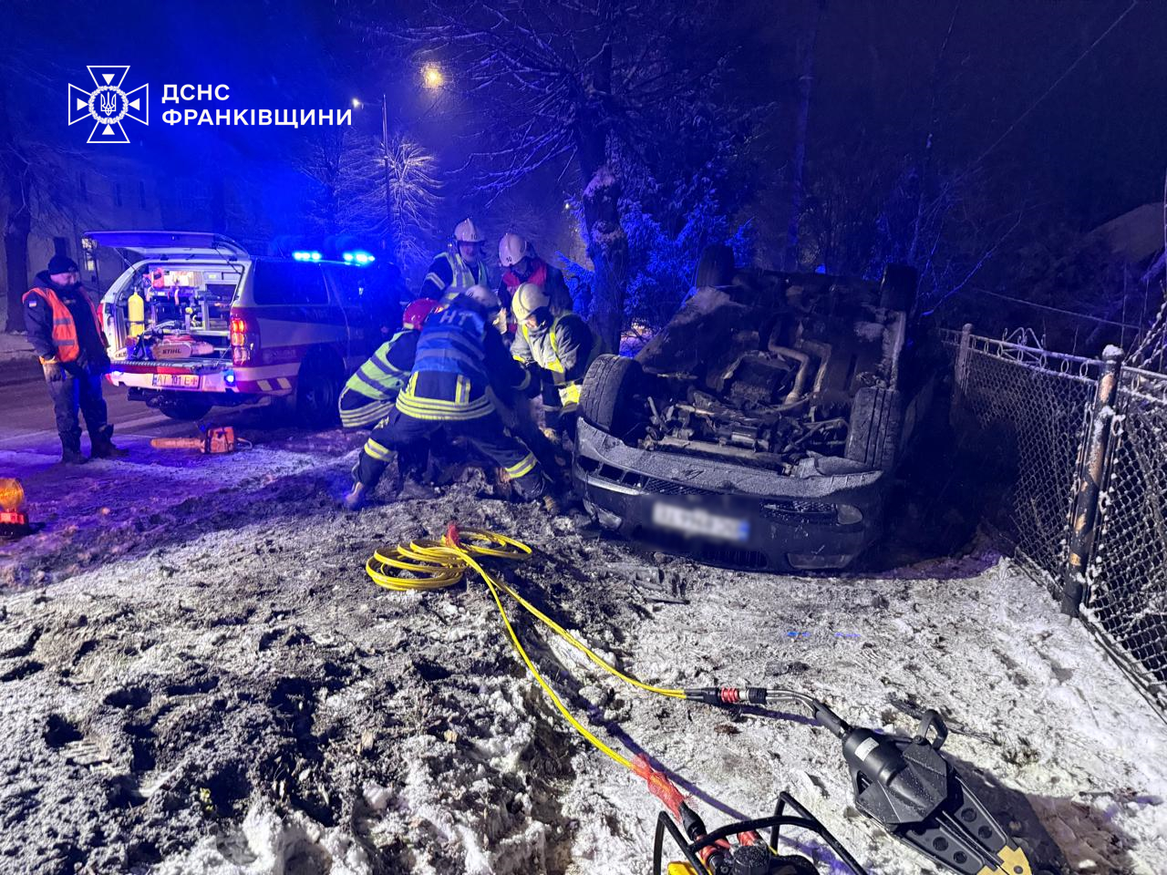
[[[341,392],[341,425],[344,428],[372,428],[393,412],[393,401],[413,370],[421,327],[438,302],[420,298],[401,316],[401,330],[383,343]]]

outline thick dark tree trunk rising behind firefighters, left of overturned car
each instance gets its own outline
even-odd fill
[[[599,52],[593,71],[593,100],[610,98],[612,49]],[[620,222],[620,180],[607,160],[607,135],[600,105],[584,108],[575,125],[584,187],[584,243],[592,259],[592,327],[613,352],[620,351],[628,286],[628,235]]]

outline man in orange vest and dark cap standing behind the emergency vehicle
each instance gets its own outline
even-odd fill
[[[36,274],[36,285],[25,293],[28,342],[41,358],[44,382],[61,435],[61,461],[82,464],[78,411],[85,415],[93,444],[90,459],[126,455],[111,442],[113,426],[106,421],[102,374],[110,370],[105,334],[97,308],[81,285],[77,264],[54,256],[48,270]]]

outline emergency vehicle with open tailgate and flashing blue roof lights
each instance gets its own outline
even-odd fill
[[[86,237],[127,265],[102,299],[106,378],[173,419],[270,398],[329,425],[347,376],[400,322],[399,289],[366,252],[253,257],[204,232]]]

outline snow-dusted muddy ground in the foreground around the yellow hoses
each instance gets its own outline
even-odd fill
[[[642,679],[790,686],[902,734],[936,707],[1030,860],[1167,872],[1167,726],[986,541],[784,578],[645,555],[477,478],[342,514],[358,444],[277,433],[71,470],[0,453],[46,524],[0,551],[0,870],[649,872],[656,800],[555,714],[482,584],[365,575],[378,545],[457,519],[534,547],[508,580]],[[711,826],[785,789],[872,873],[935,872],[858,814],[809,720],[619,686],[517,615],[568,706],[591,702],[593,730],[647,751]]]

